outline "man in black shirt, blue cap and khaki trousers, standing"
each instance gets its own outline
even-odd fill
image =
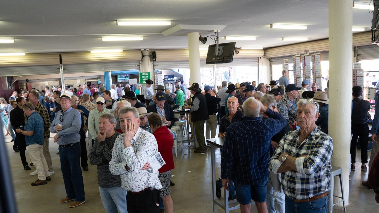
[[[213,89],[213,86],[205,86],[204,91],[205,100],[207,100],[207,109],[209,114],[209,119],[205,120],[205,138],[215,138],[217,127],[217,104],[221,101],[221,98],[216,93],[216,90]],[[212,92],[216,94],[216,97],[211,96]],[[209,132],[211,132],[210,135]]]

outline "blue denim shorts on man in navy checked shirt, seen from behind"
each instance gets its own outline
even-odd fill
[[[251,199],[258,203],[265,202],[267,183],[268,178],[257,185],[240,185],[238,183],[234,183],[237,202],[242,205],[250,204]]]

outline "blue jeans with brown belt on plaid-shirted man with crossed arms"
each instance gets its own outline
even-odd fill
[[[285,196],[286,213],[327,213],[328,196],[313,200],[312,202],[294,202],[290,197]]]

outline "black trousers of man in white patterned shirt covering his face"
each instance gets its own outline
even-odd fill
[[[128,213],[159,213],[159,190],[150,188],[141,193],[126,194]]]

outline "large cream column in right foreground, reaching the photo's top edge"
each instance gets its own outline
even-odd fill
[[[351,29],[352,1],[329,0],[329,135],[333,139],[332,166],[343,171],[346,205],[349,204]],[[339,180],[335,179],[335,187],[331,190],[335,190],[335,195],[341,194]]]

